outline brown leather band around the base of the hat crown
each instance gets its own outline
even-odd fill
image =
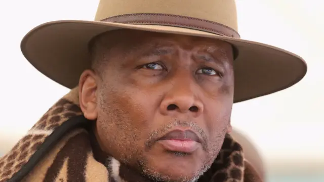
[[[192,18],[187,16],[170,15],[170,14],[151,14],[151,13],[138,13],[138,14],[125,14],[109,18],[101,21],[126,23],[126,24],[149,24],[149,25],[166,25],[176,26],[182,28],[190,28],[200,31],[206,31],[231,38],[240,38],[240,35],[234,29],[223,25],[221,23]]]

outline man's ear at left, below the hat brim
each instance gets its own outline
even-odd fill
[[[79,103],[81,110],[88,120],[96,120],[97,111],[97,83],[92,70],[85,70],[79,80]]]

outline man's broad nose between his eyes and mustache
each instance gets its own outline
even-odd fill
[[[203,113],[204,105],[198,98],[197,86],[187,79],[174,83],[161,101],[160,111],[163,115],[188,114],[198,117]]]

